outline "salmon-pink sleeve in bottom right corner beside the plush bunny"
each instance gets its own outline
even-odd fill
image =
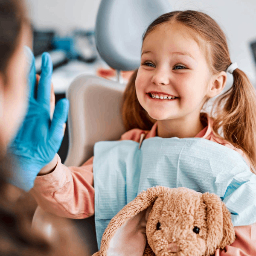
[[[216,250],[215,256],[256,256],[256,223],[235,227],[236,240],[224,250]]]

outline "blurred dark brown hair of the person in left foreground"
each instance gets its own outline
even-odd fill
[[[15,50],[19,46],[23,21],[26,20],[23,0],[0,0],[0,73],[8,87],[6,69]],[[17,74],[18,76],[19,74]],[[1,131],[0,131],[1,132]],[[5,150],[0,145],[0,160]],[[9,160],[7,158],[7,162]],[[11,168],[11,166],[10,166]],[[46,240],[31,232],[28,218],[22,218],[26,210],[17,209],[6,195],[10,194],[5,181],[6,170],[0,168],[0,255],[31,256],[52,255]],[[11,191],[12,193],[13,191]]]

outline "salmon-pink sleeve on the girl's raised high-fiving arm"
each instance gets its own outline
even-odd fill
[[[55,170],[38,176],[30,190],[47,212],[67,218],[87,218],[94,214],[93,157],[80,167],[58,163]]]

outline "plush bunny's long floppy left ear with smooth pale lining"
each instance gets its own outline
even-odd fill
[[[157,186],[141,192],[112,218],[103,236],[101,256],[143,256],[146,224],[151,206],[166,191]]]

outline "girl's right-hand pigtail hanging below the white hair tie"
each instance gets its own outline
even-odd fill
[[[256,91],[245,73],[233,71],[233,86],[221,95],[214,108],[213,131],[221,128],[224,139],[240,148],[256,174]]]

